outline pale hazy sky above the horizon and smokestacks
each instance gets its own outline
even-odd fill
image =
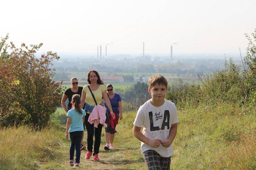
[[[256,28],[256,0],[43,0],[0,3],[0,36],[16,46],[108,54],[245,52]],[[99,47],[100,48],[100,47]]]

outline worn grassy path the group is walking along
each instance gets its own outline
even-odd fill
[[[119,121],[117,125],[117,133],[115,136],[115,148],[111,150],[104,150],[105,138],[104,128],[101,134],[101,145],[99,158],[100,161],[93,161],[92,157],[89,160],[84,159],[86,151],[81,152],[80,166],[83,169],[145,169],[145,163],[142,154],[140,153],[140,142],[133,139],[132,135],[132,119],[134,114],[125,114],[124,118],[130,117],[130,121]],[[129,124],[129,125],[128,125]],[[129,127],[129,130],[127,130]],[[61,133],[65,137],[65,127],[62,127]],[[86,132],[83,144],[86,146]],[[72,169],[68,165],[70,140],[63,140],[60,146],[56,147],[56,157],[43,163],[40,169]]]

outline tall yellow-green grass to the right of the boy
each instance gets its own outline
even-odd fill
[[[255,169],[256,116],[238,104],[178,111],[172,169]]]

